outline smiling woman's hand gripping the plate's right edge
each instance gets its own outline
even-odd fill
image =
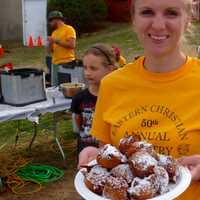
[[[179,162],[189,168],[193,181],[200,180],[200,155],[182,157]]]

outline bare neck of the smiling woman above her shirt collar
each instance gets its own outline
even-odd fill
[[[170,56],[145,56],[144,67],[150,72],[166,73],[172,72],[186,62],[186,55],[183,52],[174,53]]]

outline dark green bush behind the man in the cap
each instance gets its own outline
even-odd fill
[[[104,0],[48,0],[48,12],[59,10],[78,33],[91,30],[107,16]]]

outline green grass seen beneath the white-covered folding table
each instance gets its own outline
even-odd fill
[[[57,130],[60,137],[65,139],[75,138],[72,132],[71,120],[66,120],[64,115],[58,117]],[[38,125],[38,138],[45,140],[53,140],[53,115],[46,114],[40,118]],[[0,123],[0,151],[4,145],[10,146],[15,143],[15,135],[19,133],[19,144],[26,144],[30,142],[33,135],[33,123],[28,120],[8,121]],[[48,136],[48,137],[47,137]],[[37,140],[37,139],[36,139]]]

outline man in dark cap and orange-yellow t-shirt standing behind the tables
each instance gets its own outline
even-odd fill
[[[63,14],[59,11],[49,13],[48,21],[50,27],[54,30],[48,37],[48,51],[52,54],[52,85],[58,85],[58,72],[65,66],[65,82],[72,79],[72,71],[75,67],[75,46],[76,31],[72,26],[64,23]]]

